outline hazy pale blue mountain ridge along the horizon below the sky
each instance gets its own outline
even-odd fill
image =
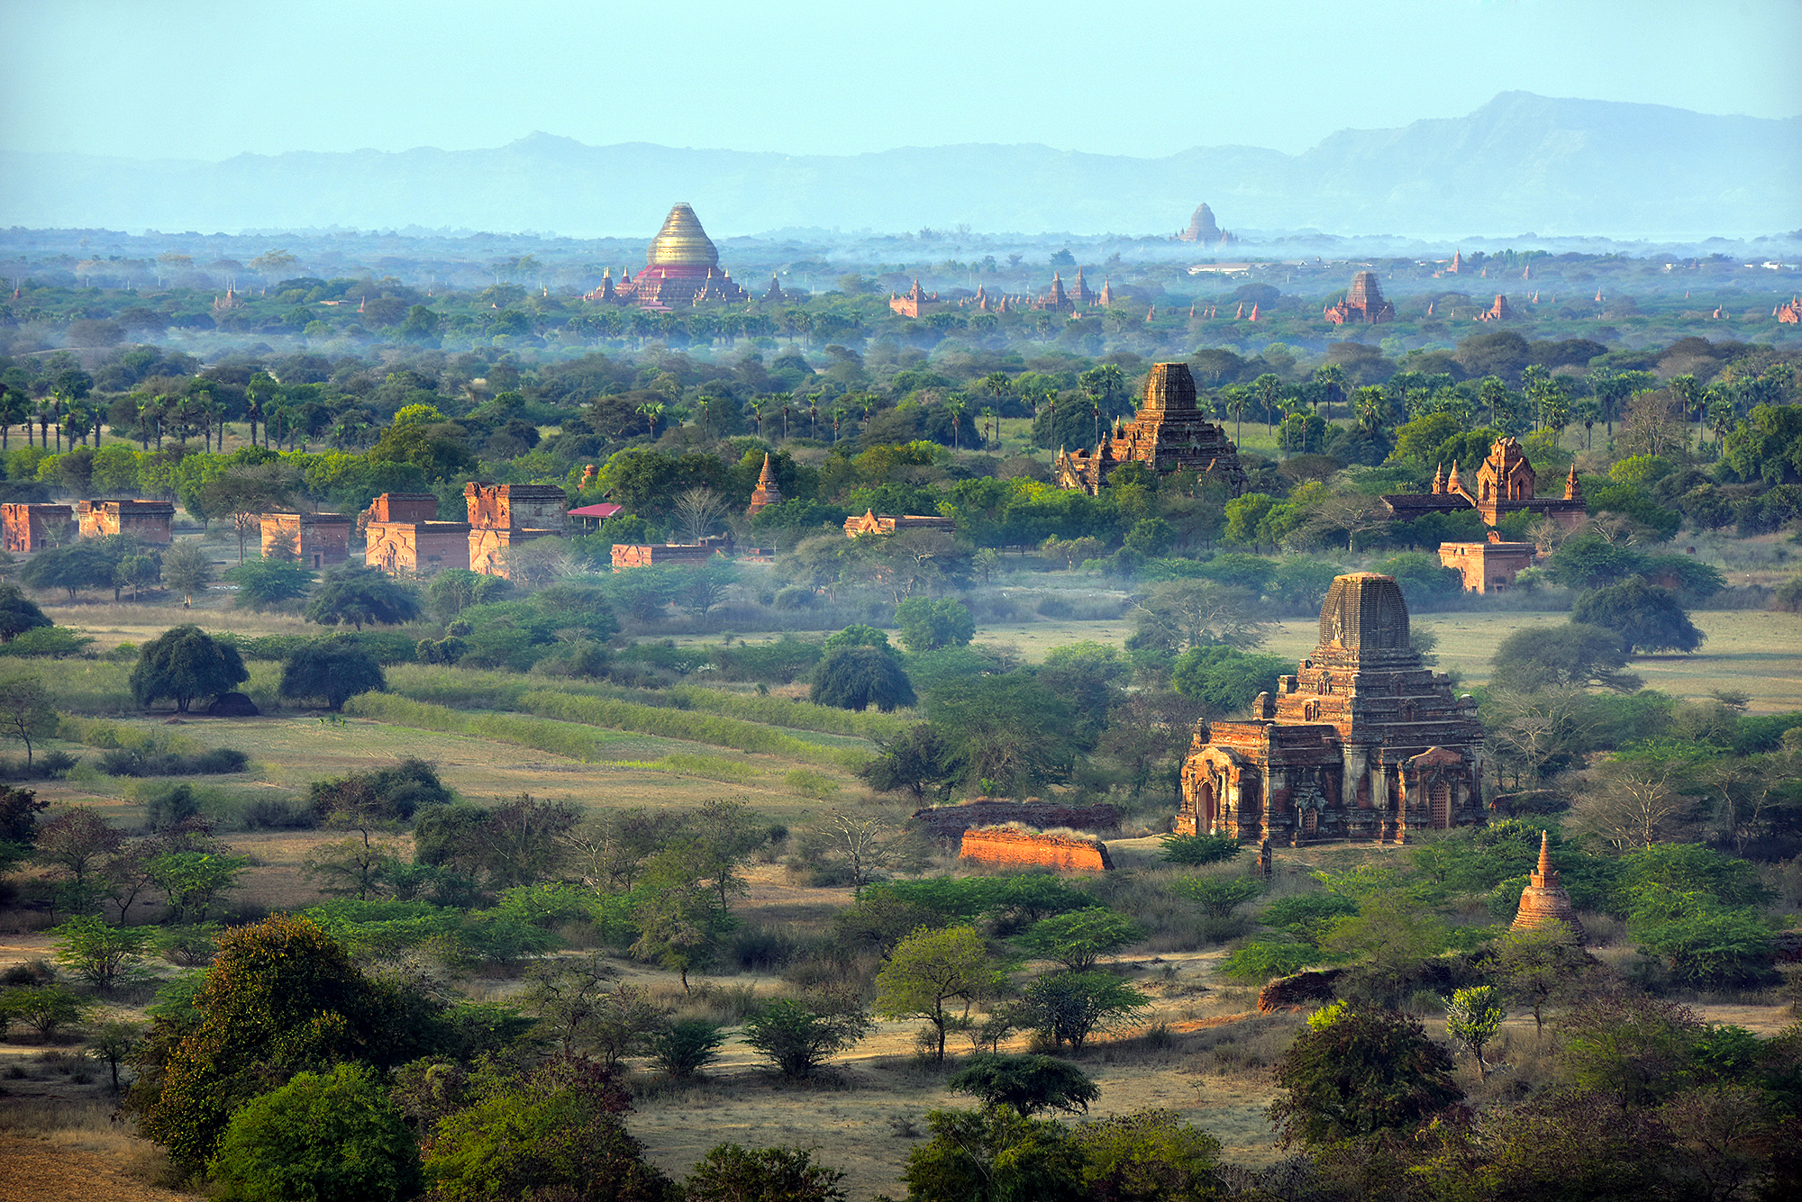
[[[1741,238],[1802,227],[1802,117],[1505,92],[1467,117],[1344,130],[1285,155],[1166,158],[1047,146],[869,155],[586,146],[533,133],[432,148],[225,162],[0,151],[0,227],[656,232],[692,202],[715,236],[786,227],[1162,234],[1202,200],[1234,230],[1422,238]]]

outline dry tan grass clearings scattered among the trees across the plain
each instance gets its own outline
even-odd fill
[[[1072,590],[1074,592],[1074,590]],[[1103,592],[1103,590],[1097,590]],[[1079,594],[1078,594],[1079,596]],[[1119,594],[1114,594],[1119,596]],[[178,606],[74,605],[47,606],[58,623],[83,626],[101,646],[139,642],[169,624],[195,621],[207,630],[243,633],[317,633],[292,617],[247,615],[218,608],[222,597],[184,612]],[[1739,687],[1753,695],[1753,711],[1802,707],[1802,619],[1759,612],[1701,612],[1696,623],[1708,633],[1694,657],[1640,660],[1647,684],[1678,696],[1703,696],[1710,689]],[[1429,614],[1416,619],[1440,635],[1440,664],[1467,682],[1481,682],[1496,642],[1521,626],[1555,624],[1557,614]],[[1132,632],[1130,617],[1099,623],[1027,621],[984,626],[982,642],[1018,648],[1025,660],[1038,660],[1054,646],[1096,641],[1119,644]],[[753,635],[755,639],[755,635]],[[1296,659],[1315,641],[1315,623],[1285,621],[1272,633],[1269,650]],[[256,664],[256,691],[272,691],[274,668]],[[65,684],[101,687],[115,680],[117,666],[70,662]],[[90,678],[92,684],[83,684]],[[782,689],[780,693],[796,693]],[[133,718],[132,723],[159,725]],[[631,731],[604,734],[605,763],[580,763],[550,752],[481,738],[440,734],[362,718],[321,720],[292,713],[265,718],[193,718],[177,731],[207,747],[236,747],[252,758],[250,772],[238,777],[204,777],[209,804],[231,804],[256,794],[296,795],[321,777],[420,756],[440,765],[443,779],[463,797],[488,801],[521,792],[571,801],[584,808],[694,806],[710,797],[742,795],[769,821],[798,824],[809,813],[842,799],[854,803],[856,781],[840,768],[798,765],[769,754],[746,754],[708,743],[656,738]],[[789,731],[815,743],[847,743],[809,731]],[[70,747],[70,750],[79,750]],[[730,759],[744,768],[742,779],[721,781],[669,767],[647,767],[670,754],[712,761]],[[796,790],[789,774],[805,767],[816,785]],[[824,779],[824,788],[818,781]],[[838,790],[836,794],[833,790]],[[124,826],[142,822],[137,790],[92,772],[68,781],[50,781],[41,795],[52,803],[94,804]],[[317,894],[301,876],[301,862],[323,839],[314,831],[229,833],[229,842],[256,857],[243,902],[263,907],[299,907]],[[1150,866],[1150,840],[1117,840],[1112,853],[1124,873]],[[1278,851],[1290,873],[1312,867],[1342,869],[1353,862],[1393,855],[1395,849],[1324,848],[1308,853]],[[751,893],[742,916],[759,925],[793,925],[818,932],[831,912],[849,902],[840,889],[798,885],[773,864],[751,873]],[[0,934],[0,968],[45,955],[43,934]],[[1114,1114],[1159,1105],[1180,1112],[1213,1132],[1225,1153],[1240,1162],[1276,1155],[1263,1108],[1272,1098],[1269,1065],[1290,1038],[1297,1015],[1260,1017],[1254,991],[1213,977],[1220,950],[1124,957],[1121,966],[1153,997],[1148,1027],[1123,1031],[1085,1053],[1083,1069],[1101,1083],[1096,1114]],[[620,961],[622,979],[643,981],[681,1002],[678,981],[656,970]],[[775,977],[723,975],[699,979],[699,986],[757,993],[782,988]],[[481,997],[506,997],[515,981],[478,981]],[[1703,1008],[1710,1018],[1739,1022],[1757,1031],[1775,1031],[1788,1022],[1779,1008]],[[1150,1026],[1150,1024],[1155,1024]],[[1524,1024],[1524,1026],[1523,1026]],[[815,1146],[820,1157],[847,1170],[851,1197],[872,1193],[899,1197],[899,1171],[923,1132],[921,1116],[951,1098],[939,1072],[912,1054],[919,1024],[879,1024],[872,1036],[840,1060],[833,1076],[796,1087],[766,1074],[737,1038],[724,1049],[715,1072],[703,1083],[669,1089],[649,1072],[638,1076],[638,1103],[631,1126],[647,1143],[661,1168],[683,1173],[710,1146],[723,1141],[744,1144],[796,1143]],[[1146,1031],[1151,1029],[1151,1035]],[[1530,1020],[1510,1020],[1510,1049],[1523,1060],[1539,1056]],[[1024,1047],[1016,1040],[1016,1047]],[[72,1081],[68,1072],[41,1063],[41,1051],[25,1044],[0,1044],[0,1202],[61,1202],[63,1198],[173,1198],[144,1184],[159,1155],[135,1139],[128,1125],[108,1119],[110,1101],[99,1076]],[[7,1076],[18,1067],[22,1076]],[[1467,1089],[1476,1090],[1474,1072]]]

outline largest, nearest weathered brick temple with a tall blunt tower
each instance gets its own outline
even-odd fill
[[[1321,641],[1247,720],[1202,725],[1175,830],[1240,842],[1407,842],[1485,821],[1476,702],[1409,644],[1391,576],[1333,579]]]

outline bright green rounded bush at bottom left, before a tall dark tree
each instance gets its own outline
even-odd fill
[[[375,1074],[357,1063],[297,1072],[245,1103],[209,1170],[245,1202],[393,1202],[423,1184],[413,1130]]]

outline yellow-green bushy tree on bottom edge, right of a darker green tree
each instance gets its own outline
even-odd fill
[[[1108,1202],[1213,1202],[1224,1195],[1220,1141],[1175,1110],[1135,1110],[1076,1126],[1083,1180]]]

